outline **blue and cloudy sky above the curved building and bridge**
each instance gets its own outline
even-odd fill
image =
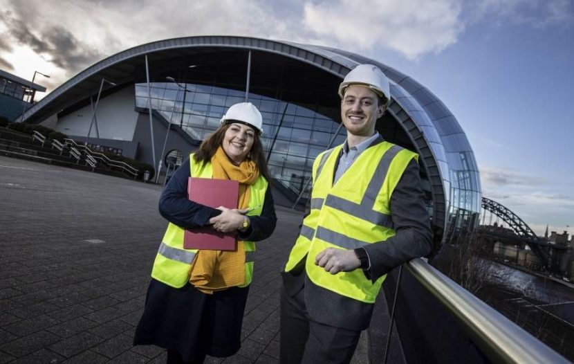
[[[483,196],[539,235],[574,230],[574,1],[0,0],[0,69],[50,75],[35,79],[46,94],[127,48],[196,35],[331,46],[394,67],[459,120]]]

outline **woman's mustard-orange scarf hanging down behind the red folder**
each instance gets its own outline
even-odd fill
[[[248,208],[250,189],[259,178],[254,161],[248,159],[239,165],[230,162],[220,146],[211,158],[214,179],[232,179],[239,182],[240,209]],[[237,251],[198,251],[192,262],[189,283],[203,293],[213,293],[245,283],[245,248],[237,241]]]

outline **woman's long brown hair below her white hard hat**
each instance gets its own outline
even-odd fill
[[[221,125],[216,131],[214,131],[210,136],[207,136],[201,142],[199,148],[194,152],[194,159],[196,162],[201,162],[203,164],[210,162],[211,157],[214,156],[217,148],[223,143],[223,137],[225,136],[225,131],[229,129],[231,122]],[[253,135],[253,145],[251,150],[247,155],[250,161],[254,161],[255,165],[259,169],[261,176],[270,183],[269,170],[267,169],[267,161],[265,154],[263,153],[263,144],[261,144],[261,138],[257,131]]]

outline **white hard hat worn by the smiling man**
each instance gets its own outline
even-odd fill
[[[387,104],[391,100],[391,86],[385,73],[372,64],[359,64],[351,72],[347,73],[345,79],[339,85],[339,96],[343,98],[345,89],[351,84],[360,84],[369,87],[377,95],[386,98]]]

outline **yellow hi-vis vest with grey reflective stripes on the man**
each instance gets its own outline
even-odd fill
[[[311,212],[303,221],[285,271],[307,256],[305,269],[314,284],[373,303],[386,275],[376,282],[368,280],[361,269],[331,275],[315,265],[315,256],[326,248],[355,249],[394,236],[391,194],[409,161],[418,155],[382,141],[364,150],[333,185],[341,149],[339,145],[322,152],[313,163]]]

